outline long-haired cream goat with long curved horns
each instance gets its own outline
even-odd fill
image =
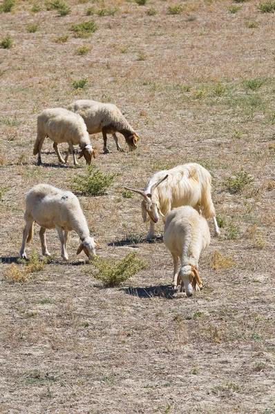
[[[151,219],[147,240],[153,238],[154,226],[160,215],[164,219],[173,208],[180,206],[196,208],[206,219],[213,217],[215,234],[220,234],[211,199],[211,175],[200,164],[190,163],[171,170],[158,171],[146,184],[144,190],[125,188],[143,197],[143,221],[144,223],[147,221],[147,213]]]

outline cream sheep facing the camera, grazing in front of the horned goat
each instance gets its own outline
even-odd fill
[[[183,286],[187,296],[193,289],[200,290],[202,282],[198,274],[200,253],[210,243],[207,221],[193,207],[174,208],[167,216],[164,226],[163,242],[173,256],[173,288]],[[178,272],[178,257],[180,271]]]

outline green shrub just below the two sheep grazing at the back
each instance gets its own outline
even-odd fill
[[[83,195],[102,195],[111,186],[114,177],[115,174],[95,170],[93,165],[87,166],[84,173],[74,177],[71,188]]]

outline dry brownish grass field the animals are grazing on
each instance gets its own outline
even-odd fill
[[[0,3],[0,413],[274,414],[275,6],[60,3]],[[78,37],[84,21],[97,30]],[[114,288],[76,255],[76,233],[62,262],[49,230],[45,264],[35,225],[34,263],[17,262],[27,191],[70,189],[85,171],[71,156],[61,166],[49,139],[42,166],[32,155],[37,115],[76,99],[115,103],[140,135],[135,152],[120,135],[123,153],[109,136],[108,155],[92,136],[93,164],[116,176],[105,195],[79,195],[98,255],[146,263]],[[210,220],[204,288],[190,298],[171,288],[163,225],[146,242],[141,197],[123,192],[187,162],[213,176],[222,233]]]

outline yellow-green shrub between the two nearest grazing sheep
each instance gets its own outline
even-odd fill
[[[135,252],[129,253],[117,262],[104,260],[102,257],[96,256],[93,260],[93,265],[98,272],[91,272],[91,274],[95,279],[100,280],[106,288],[119,286],[146,266],[145,262],[138,259],[136,255],[137,253]]]

